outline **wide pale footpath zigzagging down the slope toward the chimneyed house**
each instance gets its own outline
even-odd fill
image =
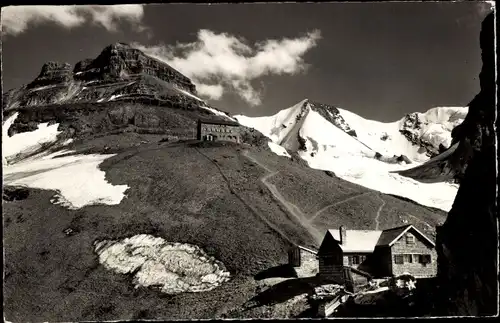
[[[246,158],[248,158],[251,162],[259,165],[261,168],[263,168],[265,171],[268,172],[268,174],[266,174],[260,178],[260,181],[262,182],[262,184],[264,184],[266,186],[266,188],[271,192],[273,197],[281,205],[283,205],[285,207],[285,209],[288,211],[288,213],[290,213],[290,215],[292,215],[294,218],[296,218],[298,220],[298,222],[308,230],[308,232],[311,234],[311,236],[314,238],[314,240],[318,244],[320,244],[323,236],[319,232],[319,230],[316,229],[314,226],[312,226],[309,223],[305,214],[295,204],[293,204],[285,199],[285,197],[278,191],[278,189],[276,188],[276,186],[274,184],[271,184],[267,181],[269,178],[277,175],[279,173],[279,171],[272,171],[271,169],[269,169],[268,167],[266,167],[265,165],[260,163],[258,160],[256,160],[252,156],[250,156],[248,154],[247,150],[244,150],[242,152],[242,155],[245,156]]]

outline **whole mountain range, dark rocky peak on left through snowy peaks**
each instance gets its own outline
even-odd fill
[[[199,98],[189,78],[124,43],[107,46],[74,68],[46,63],[35,80],[4,93],[3,99],[4,118],[17,112],[8,135],[57,122],[64,140],[116,131],[189,139],[200,117],[237,120],[246,141],[262,145],[270,140],[269,147],[296,152],[313,168],[445,210],[457,188],[441,182],[453,182],[465,168],[447,149],[456,148],[450,147],[451,132],[467,108],[437,107],[382,123],[306,99],[274,116],[231,117]],[[420,190],[421,184],[409,178],[427,186],[438,183]],[[434,196],[421,197],[422,191]]]

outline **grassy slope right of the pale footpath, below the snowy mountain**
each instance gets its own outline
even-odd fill
[[[387,229],[407,223],[414,224],[422,232],[435,236],[435,226],[446,219],[446,212],[425,207],[412,201],[381,194],[363,186],[330,177],[324,171],[301,167],[284,158],[272,158],[272,153],[262,150],[258,158],[265,160],[272,170],[280,170],[271,179],[281,193],[293,201],[308,217],[321,209],[312,223],[320,230],[338,228],[375,229],[375,217],[382,200],[379,229]],[[352,198],[358,196],[357,198]],[[345,202],[344,202],[345,201]]]

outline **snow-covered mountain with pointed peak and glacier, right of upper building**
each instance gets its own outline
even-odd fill
[[[272,116],[234,117],[275,145],[297,152],[312,168],[448,211],[457,185],[421,183],[393,172],[419,166],[436,156],[440,147],[448,148],[451,130],[466,114],[467,108],[433,108],[384,123],[306,99]]]

